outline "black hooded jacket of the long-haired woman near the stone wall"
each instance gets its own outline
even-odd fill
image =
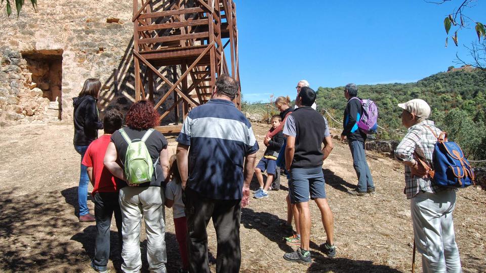
[[[97,100],[91,96],[73,98],[74,140],[75,146],[88,146],[98,138],[98,129],[103,129],[103,122],[98,119]]]

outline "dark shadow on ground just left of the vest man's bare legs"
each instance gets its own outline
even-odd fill
[[[260,234],[268,238],[270,241],[278,245],[278,247],[285,252],[292,252],[300,245],[288,245],[285,242],[284,236],[291,236],[286,233],[288,231],[282,228],[282,223],[286,220],[278,218],[278,216],[268,212],[255,212],[250,208],[241,209],[241,223],[246,229],[257,230]],[[284,235],[284,236],[282,236]],[[311,248],[318,248],[318,245],[310,241]]]

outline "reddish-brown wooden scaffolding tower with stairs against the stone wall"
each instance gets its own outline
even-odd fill
[[[157,130],[178,132],[181,118],[210,99],[219,75],[228,74],[239,82],[235,4],[232,0],[133,0],[133,11],[135,101],[153,102],[160,121],[173,114],[176,125]],[[171,69],[173,81],[167,78]],[[156,82],[170,87],[158,101],[154,101]],[[239,92],[234,102],[241,109]]]

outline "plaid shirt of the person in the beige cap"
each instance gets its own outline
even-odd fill
[[[403,137],[400,144],[396,147],[395,157],[401,162],[411,162],[414,158],[414,152],[418,157],[433,166],[432,158],[435,150],[435,138],[432,131],[425,125],[429,126],[434,132],[439,135],[442,131],[435,127],[431,120],[424,120],[409,128],[407,135]],[[419,164],[419,163],[417,163]],[[441,188],[433,184],[430,178],[412,177],[411,167],[405,166],[405,191],[407,199],[415,197],[420,191],[436,193]]]

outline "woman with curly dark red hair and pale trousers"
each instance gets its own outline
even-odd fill
[[[169,177],[169,152],[167,140],[163,134],[153,130],[159,115],[153,105],[147,101],[136,102],[130,107],[125,118],[128,127],[123,131],[131,141],[145,139],[152,164],[153,175],[150,181],[130,184],[120,189],[119,203],[122,218],[123,247],[121,269],[126,272],[138,272],[142,267],[140,254],[140,228],[142,216],[145,220],[147,235],[147,260],[149,270],[166,272],[166,242],[164,223],[164,189],[160,187]],[[125,134],[124,133],[124,134]],[[147,133],[147,134],[146,134]],[[148,137],[147,137],[148,135]],[[127,174],[120,167],[125,166],[125,156],[129,141],[120,130],[113,133],[111,143],[106,150],[104,165],[116,177],[127,181]]]

